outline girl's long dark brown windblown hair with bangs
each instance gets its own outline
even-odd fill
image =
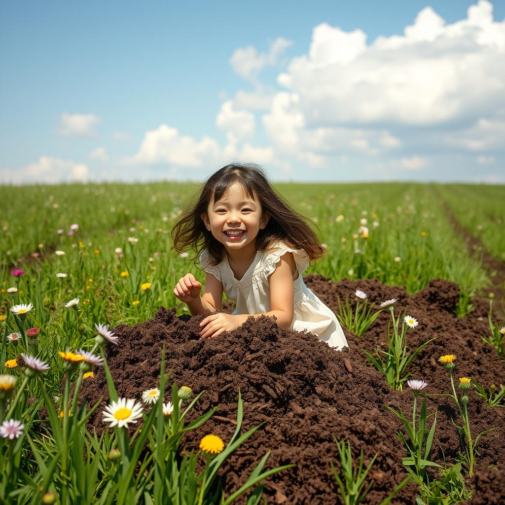
[[[264,170],[254,163],[226,165],[204,182],[196,204],[184,212],[172,228],[171,236],[177,252],[190,246],[196,251],[194,261],[207,248],[213,265],[224,259],[225,246],[214,238],[200,216],[208,213],[213,194],[214,201],[220,200],[234,182],[238,182],[250,198],[254,199],[256,195],[262,211],[270,213],[267,226],[260,229],[256,236],[258,250],[270,250],[275,242],[281,240],[293,249],[303,249],[310,260],[323,256],[324,250],[308,225],[313,221],[296,213],[270,185]]]

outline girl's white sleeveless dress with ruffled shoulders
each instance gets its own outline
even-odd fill
[[[309,289],[301,277],[309,266],[309,259],[303,249],[292,249],[283,242],[278,242],[270,252],[256,252],[255,259],[238,280],[226,257],[219,265],[211,266],[210,255],[205,249],[200,255],[200,266],[221,281],[223,290],[230,300],[236,304],[232,314],[263,314],[270,312],[270,288],[268,277],[273,273],[280,257],[286,252],[292,252],[298,278],[293,280],[293,321],[291,330],[310,331],[319,340],[330,347],[341,349],[347,346],[347,340],[333,311]]]

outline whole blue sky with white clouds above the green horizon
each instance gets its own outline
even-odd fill
[[[0,183],[505,183],[503,2],[4,2]]]

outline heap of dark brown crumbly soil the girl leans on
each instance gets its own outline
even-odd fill
[[[486,304],[477,300],[472,314],[457,318],[453,314],[459,296],[456,284],[436,279],[417,294],[409,295],[404,287],[386,286],[377,280],[331,282],[319,275],[309,275],[305,280],[334,311],[337,296],[348,296],[354,306],[356,289],[365,291],[369,302],[376,304],[396,298],[395,314],[407,310],[419,321],[419,326],[408,332],[409,348],[436,337],[411,366],[413,378],[429,383],[429,394],[449,393],[448,373],[436,361],[444,354],[458,356],[456,380],[460,376],[475,377],[486,387],[505,382],[503,362],[479,336],[486,334]],[[384,310],[361,337],[344,330],[349,349],[341,352],[310,333],[278,328],[267,317],[249,318],[234,332],[201,339],[198,323],[204,317],[176,317],[174,309],[162,307],[144,323],[114,328],[120,341],[118,346],[108,346],[107,358],[121,396],[140,398],[143,390],[158,384],[163,345],[173,380],[190,386],[195,393],[205,389],[191,419],[215,406],[219,410],[185,437],[188,448],[196,448],[200,438],[208,433],[219,435],[225,443],[230,439],[235,430],[240,388],[244,406],[242,430],[265,424],[224,464],[222,475],[227,493],[243,484],[265,452],[271,450],[268,468],[288,463],[296,467],[267,481],[269,503],[334,504],[338,500],[337,486],[330,459],[337,469],[339,464],[333,437],[348,438],[355,458],[363,449],[366,463],[378,453],[370,474],[375,483],[366,503],[380,503],[406,477],[401,465],[405,454],[396,436],[400,421],[387,406],[401,408],[409,417],[412,391],[392,390],[383,376],[367,365],[363,352],[363,348],[373,352],[385,347],[389,310]],[[85,382],[82,394],[89,402],[103,397],[103,406],[106,405],[108,392],[103,370],[95,371],[94,379]],[[476,471],[485,471],[505,458],[505,416],[503,409],[487,408],[473,391],[469,397],[473,433],[497,427],[479,441]],[[166,394],[165,401],[168,399]],[[460,448],[451,421],[457,420],[453,402],[445,396],[430,396],[428,411],[437,414],[432,459],[440,464],[444,458],[448,463],[456,461]],[[90,421],[98,430],[103,429],[99,413]],[[482,486],[474,499],[479,493],[482,500],[492,502],[495,490]],[[409,483],[393,503],[414,503],[416,495],[417,486]]]

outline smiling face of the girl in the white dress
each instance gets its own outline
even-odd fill
[[[232,184],[221,200],[209,202],[207,214],[201,214],[207,229],[227,250],[238,250],[249,244],[255,245],[255,239],[270,219],[270,214],[263,212],[260,201],[247,196],[238,183]]]

